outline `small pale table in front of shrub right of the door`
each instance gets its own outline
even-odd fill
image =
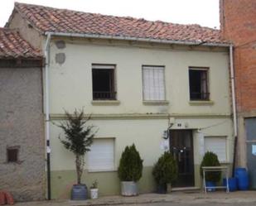
[[[204,190],[207,193],[207,189],[226,189],[226,192],[229,193],[229,167],[227,166],[203,166],[203,181],[204,181]],[[226,185],[225,186],[215,186],[215,187],[206,187],[205,184],[205,173],[210,171],[220,171],[225,172]]]

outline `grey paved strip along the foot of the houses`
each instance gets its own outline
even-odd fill
[[[88,199],[85,201],[71,201],[69,199],[17,203],[17,206],[251,206],[256,205],[256,191],[238,191],[225,193],[182,193],[171,194],[140,194],[135,197],[106,196],[99,199]]]

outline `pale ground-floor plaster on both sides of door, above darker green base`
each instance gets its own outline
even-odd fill
[[[227,137],[227,162],[233,161],[234,139],[232,137],[232,121],[229,118],[195,118],[176,119],[177,123],[187,123],[186,129],[193,129],[194,164],[200,165],[204,151],[200,138],[205,136]],[[90,122],[99,127],[96,138],[115,138],[115,166],[125,146],[135,144],[140,152],[144,166],[152,166],[162,154],[162,133],[167,130],[167,119],[140,120],[92,120]],[[177,129],[177,127],[172,127]],[[200,131],[197,129],[201,128]],[[200,136],[200,133],[202,136]],[[51,125],[51,170],[75,170],[75,159],[72,153],[65,150],[58,137],[64,137],[59,127]],[[226,163],[226,162],[225,162]],[[86,168],[86,164],[85,164]]]

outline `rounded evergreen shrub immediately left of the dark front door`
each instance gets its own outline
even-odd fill
[[[160,156],[153,167],[152,175],[157,183],[157,193],[166,194],[167,184],[171,184],[176,180],[178,175],[176,160],[171,155],[171,152],[165,151]]]

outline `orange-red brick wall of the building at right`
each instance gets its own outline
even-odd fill
[[[220,29],[234,43],[239,113],[256,109],[256,1],[220,0]]]

